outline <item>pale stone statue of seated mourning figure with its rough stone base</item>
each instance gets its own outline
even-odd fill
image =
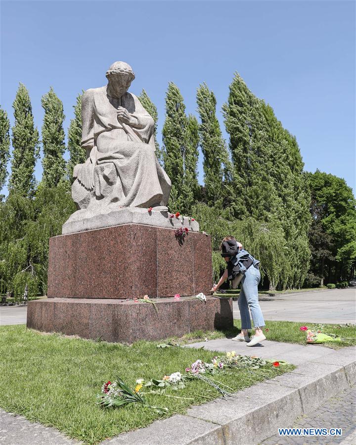
[[[113,63],[105,87],[82,99],[84,164],[74,167],[72,197],[77,206],[62,234],[123,224],[199,231],[190,218],[172,218],[167,202],[171,180],[155,155],[154,121],[132,93],[134,72]]]

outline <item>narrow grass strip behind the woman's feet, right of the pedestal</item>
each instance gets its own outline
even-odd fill
[[[274,342],[283,343],[297,343],[299,345],[307,345],[306,338],[307,334],[305,331],[301,331],[301,326],[307,326],[312,328],[317,326],[315,323],[305,323],[305,322],[293,322],[293,321],[266,321],[265,335],[267,340],[272,340]],[[318,325],[321,329],[321,325]],[[345,326],[337,324],[325,324],[322,328],[323,331],[331,334],[337,334],[346,338],[353,338],[347,342],[330,342],[322,343],[320,345],[309,345],[310,347],[327,346],[333,348],[340,348],[344,346],[356,345],[356,326]],[[197,331],[193,334],[186,335],[182,338],[184,342],[195,342],[205,340],[221,339],[223,337],[235,337],[241,332],[241,321],[234,320],[234,328],[229,331],[212,331],[203,332]],[[250,336],[253,335],[253,330],[250,331]]]

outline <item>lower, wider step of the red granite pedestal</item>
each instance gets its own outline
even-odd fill
[[[197,330],[212,331],[233,326],[231,298],[207,297],[207,301],[182,297],[135,303],[103,298],[47,298],[28,303],[27,327],[61,332],[85,339],[133,343],[181,337]]]

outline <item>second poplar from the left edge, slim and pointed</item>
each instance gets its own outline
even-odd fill
[[[31,196],[35,189],[35,164],[39,157],[39,132],[35,128],[29,93],[20,83],[13,102],[10,192]]]

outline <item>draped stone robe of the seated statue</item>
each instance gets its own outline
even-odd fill
[[[155,155],[152,117],[133,94],[114,99],[106,88],[90,89],[82,99],[87,161],[74,168],[73,176],[92,193],[84,207],[112,202],[123,207],[166,205],[171,181]],[[119,106],[134,117],[134,124],[118,120]]]

